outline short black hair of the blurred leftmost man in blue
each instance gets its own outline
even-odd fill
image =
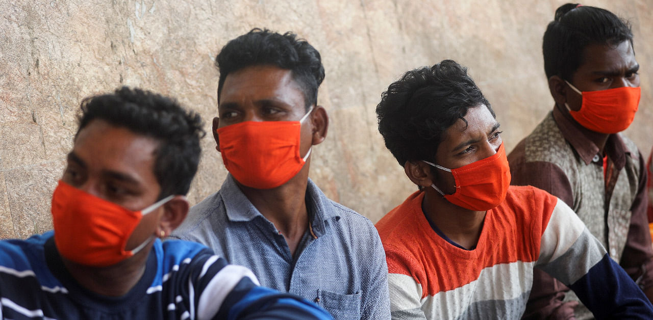
[[[200,138],[206,134],[198,113],[186,111],[172,98],[128,87],[89,96],[80,108],[75,138],[95,119],[153,138],[159,142],[153,168],[161,186],[159,199],[188,193],[199,165]]]

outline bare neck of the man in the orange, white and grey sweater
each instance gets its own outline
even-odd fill
[[[463,248],[479,242],[486,211],[472,211],[447,201],[433,188],[427,188],[422,211],[449,239]]]

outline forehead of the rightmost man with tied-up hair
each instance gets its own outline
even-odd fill
[[[628,40],[616,46],[590,44],[582,51],[582,63],[577,72],[623,70],[635,65],[635,52]]]

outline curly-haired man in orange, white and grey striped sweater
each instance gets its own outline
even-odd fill
[[[379,131],[419,191],[376,227],[394,319],[518,319],[534,267],[597,315],[653,317],[653,306],[563,201],[509,186],[499,124],[467,71],[445,60],[381,96]]]

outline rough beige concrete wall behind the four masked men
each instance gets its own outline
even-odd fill
[[[61,176],[82,98],[138,86],[200,111],[217,106],[215,54],[252,27],[295,31],[322,54],[327,141],[311,177],[327,196],[372,221],[415,190],[385,149],[374,108],[406,70],[451,58],[470,67],[503,124],[511,150],[552,108],[541,37],[563,1],[0,1],[0,238],[52,227],[50,195]],[[642,102],[628,134],[648,153],[653,121],[652,4],[592,1],[635,31]],[[648,30],[648,32],[645,32]],[[189,194],[197,203],[226,171],[215,142]]]

